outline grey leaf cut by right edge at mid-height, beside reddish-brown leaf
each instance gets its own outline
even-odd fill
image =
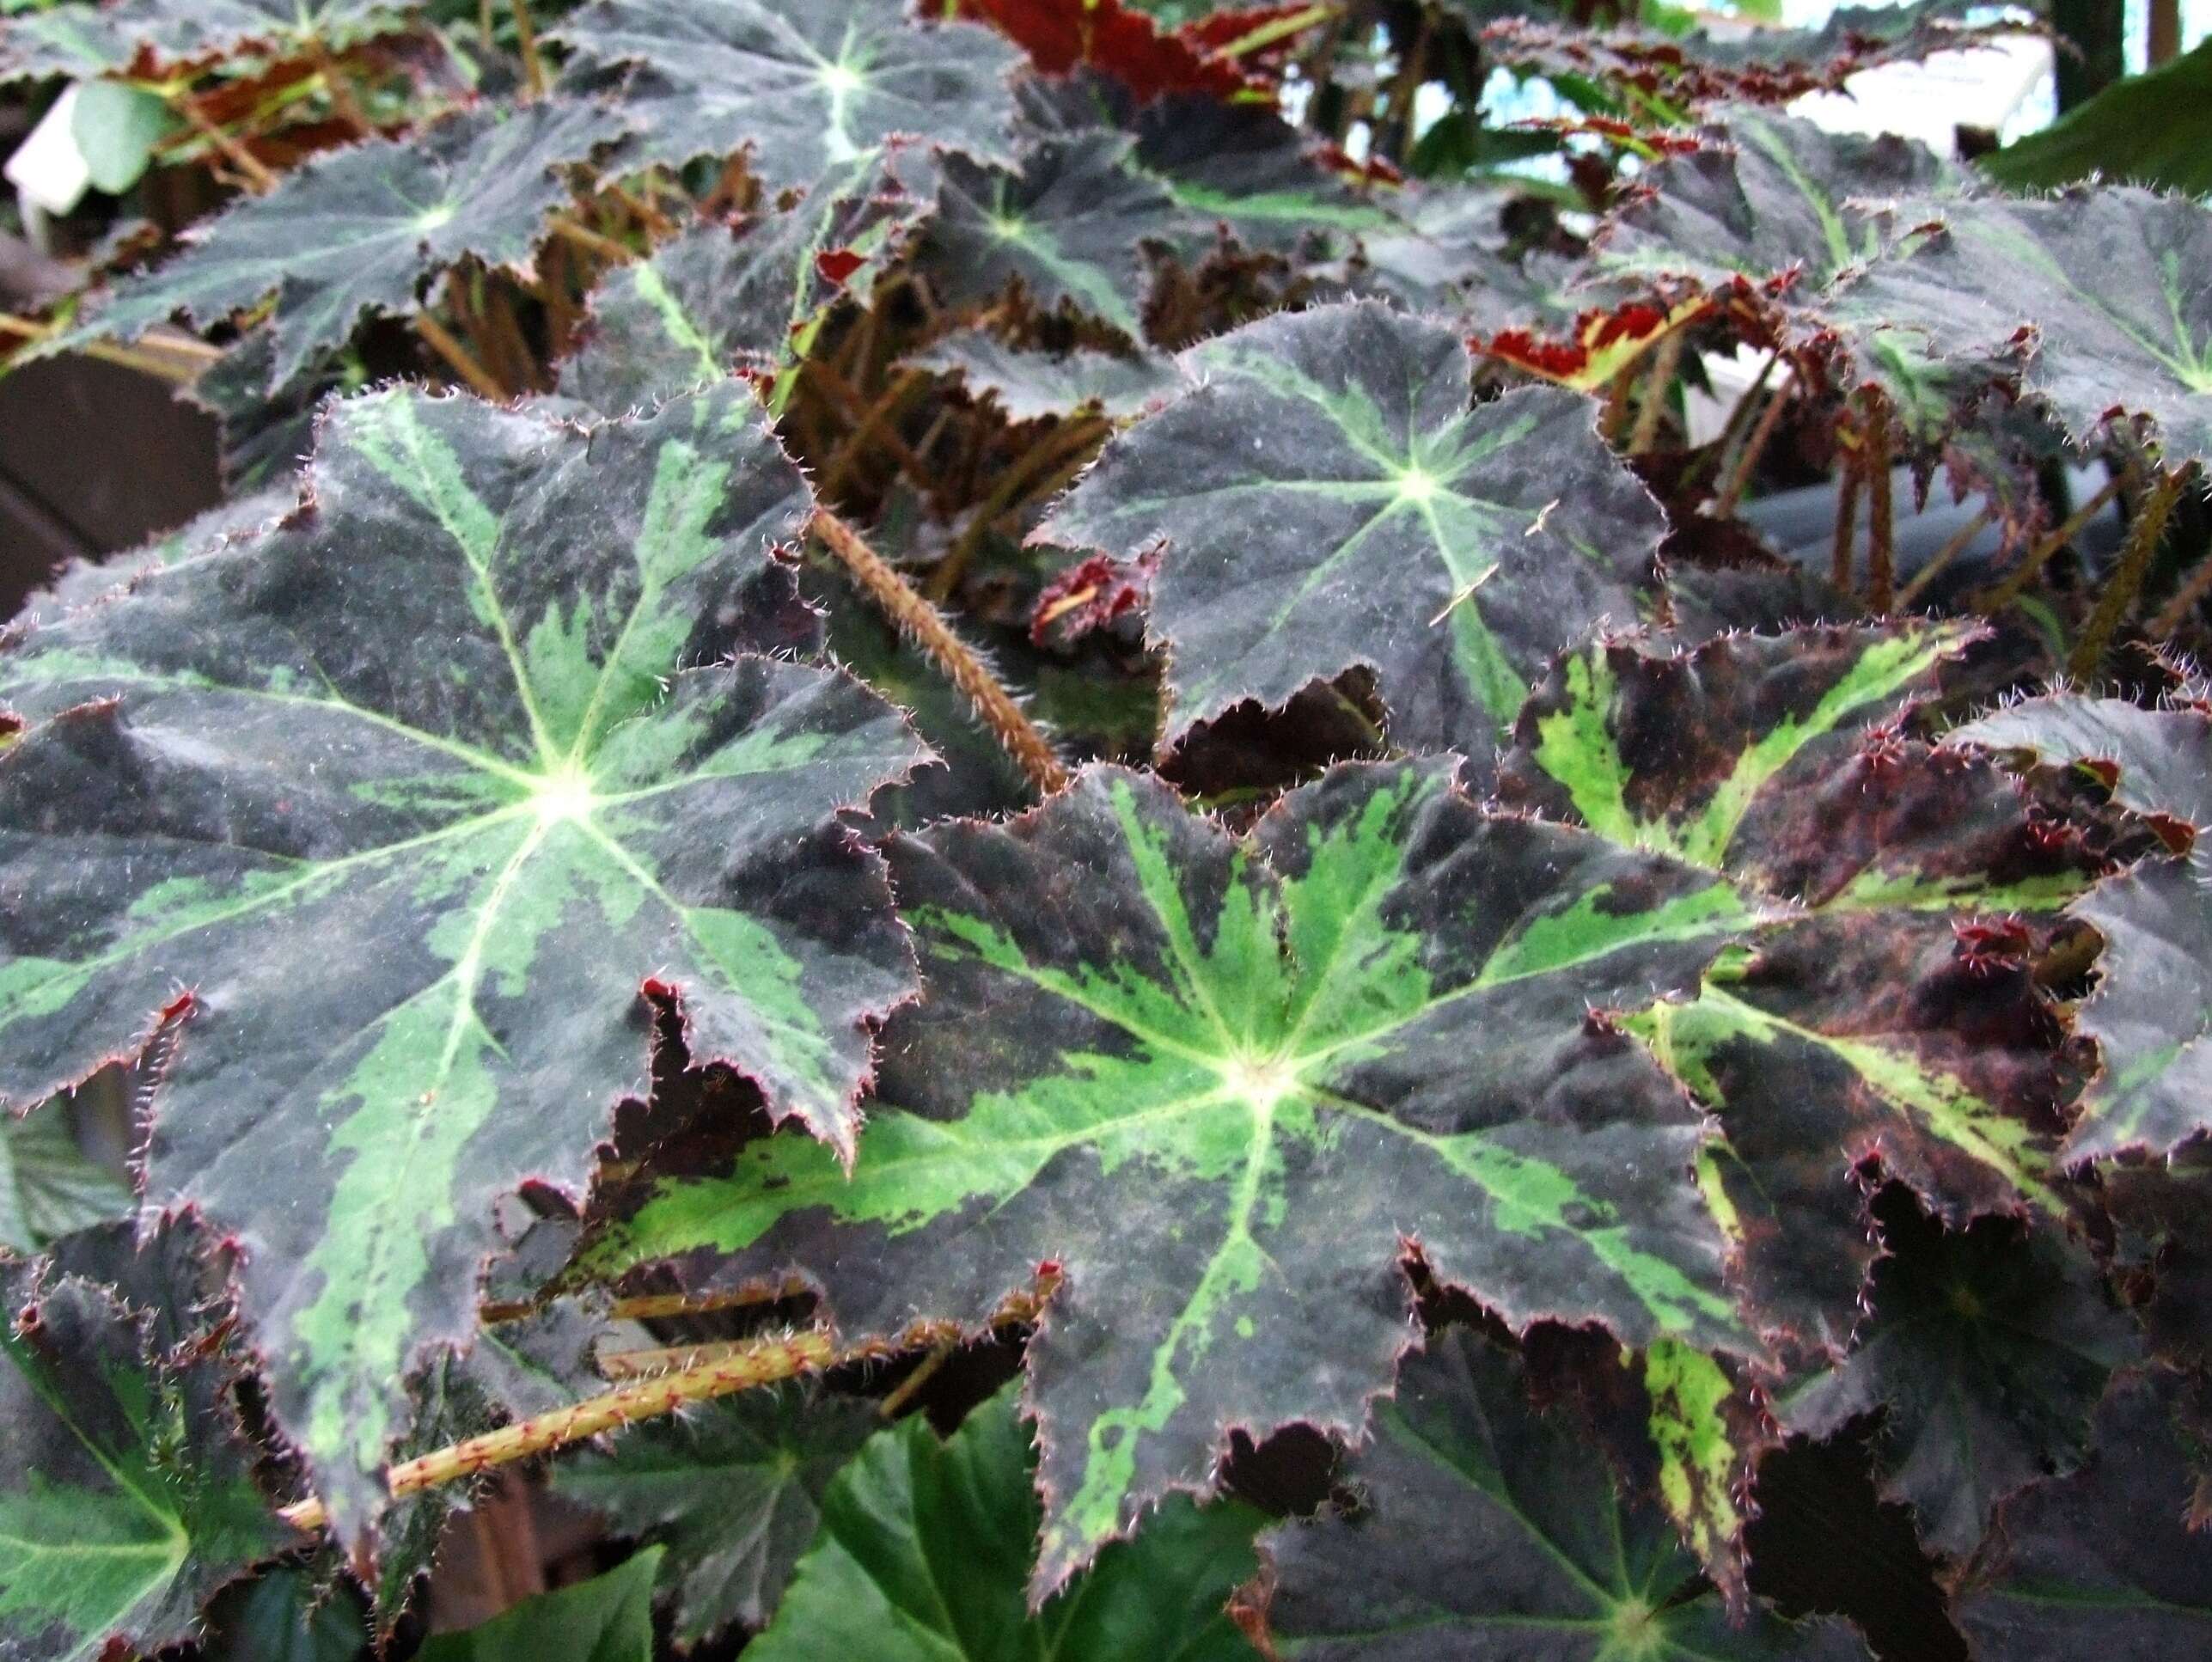
[[[2028,750],[2095,768],[2112,799],[2177,841],[2188,859],[2148,861],[2070,907],[2104,936],[2097,991],[2075,1031],[2097,1040],[2104,1073],[2081,1102],[2068,1157],[2170,1153],[2212,1131],[2212,717],[2117,699],[2028,699],[1951,730],[1955,744]]]

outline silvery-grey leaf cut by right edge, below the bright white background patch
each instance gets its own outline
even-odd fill
[[[1973,370],[2033,339],[2026,387],[2077,443],[2119,412],[2150,418],[2168,467],[2212,460],[2212,208],[2077,188],[1920,217],[1940,228],[1843,288],[1849,339]]]

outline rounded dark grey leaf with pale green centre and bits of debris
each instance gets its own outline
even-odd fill
[[[1460,336],[1371,303],[1272,316],[1179,359],[1190,389],[1110,440],[1040,540],[1166,540],[1168,744],[1371,666],[1409,748],[1482,748],[1531,679],[1632,624],[1666,529],[1595,405],[1469,409]]]

